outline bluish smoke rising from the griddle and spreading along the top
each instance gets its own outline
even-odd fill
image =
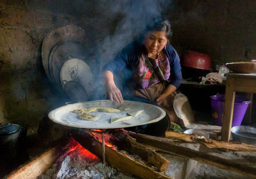
[[[162,18],[163,11],[170,5],[170,0],[35,0],[26,3],[26,8],[51,12],[53,26],[70,23],[85,30],[89,55],[84,59],[95,77],[96,91],[92,99],[102,99],[105,95],[100,80],[103,66],[136,40],[150,21]]]

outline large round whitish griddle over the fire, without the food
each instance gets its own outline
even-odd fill
[[[97,121],[84,121],[79,119],[79,114],[74,113],[74,109],[84,109],[90,107],[114,107],[116,108],[120,103],[110,100],[98,100],[98,101],[88,101],[82,103],[74,103],[70,105],[65,105],[54,109],[49,113],[49,118],[59,124],[76,127],[76,128],[86,128],[86,129],[115,129],[132,127],[137,125],[144,125],[148,123],[154,123],[164,118],[166,112],[152,104],[142,103],[137,101],[124,100],[123,105],[130,107],[132,111],[144,110],[140,115],[128,120],[120,121],[116,123],[110,123],[110,119],[116,117],[124,117],[127,115],[127,111],[119,111],[115,113],[105,113],[99,111],[90,112],[91,115],[98,115],[100,118]]]

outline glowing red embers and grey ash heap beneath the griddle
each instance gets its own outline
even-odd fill
[[[96,133],[95,135],[98,136],[100,134]],[[112,147],[110,144],[106,145]],[[38,177],[38,179],[124,178],[123,173],[120,173],[112,167],[105,167],[96,155],[82,147],[73,137],[70,137],[70,141],[63,150],[64,149],[66,149],[66,152],[60,156],[56,160],[56,163],[52,164],[43,175]],[[112,149],[114,149],[114,147],[112,147]]]

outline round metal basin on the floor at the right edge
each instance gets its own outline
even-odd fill
[[[250,126],[235,126],[231,128],[233,141],[256,145],[256,128]]]

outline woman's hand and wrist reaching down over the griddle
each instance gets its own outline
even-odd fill
[[[105,77],[105,88],[111,101],[113,99],[118,103],[123,103],[124,99],[122,97],[121,91],[116,87],[114,82],[114,75],[110,71],[104,73]]]

